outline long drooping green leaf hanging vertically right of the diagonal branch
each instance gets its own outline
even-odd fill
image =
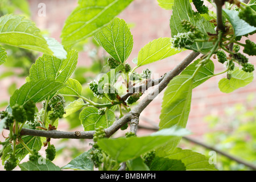
[[[174,77],[167,85],[160,114],[160,130],[172,126],[185,128],[191,106],[192,84],[192,76],[179,75]],[[181,137],[168,143],[168,150],[174,150],[180,139]]]

